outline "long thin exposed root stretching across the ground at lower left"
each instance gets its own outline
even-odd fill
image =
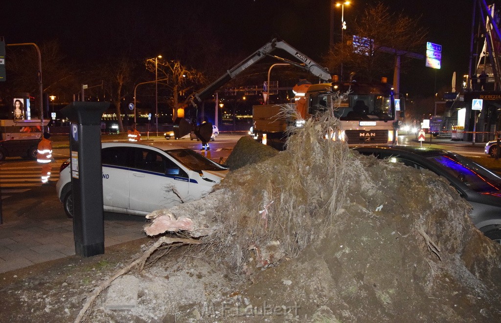
[[[195,240],[195,239],[189,239],[189,238],[172,238],[172,237],[167,237],[167,236],[162,236],[160,237],[155,243],[153,243],[148,249],[146,249],[140,257],[138,257],[136,260],[131,262],[129,265],[125,266],[124,268],[120,269],[118,272],[116,272],[113,276],[108,278],[106,281],[101,283],[99,286],[94,288],[92,291],[92,294],[87,297],[87,300],[80,310],[77,318],[75,319],[75,323],[82,322],[86,319],[87,316],[87,311],[92,307],[94,304],[94,301],[96,298],[101,294],[103,290],[108,288],[113,280],[116,278],[120,277],[121,275],[129,272],[133,268],[137,267],[138,271],[141,272],[144,268],[144,264],[150,257],[150,255],[155,252],[163,243],[171,244],[171,243],[182,243],[182,244],[201,244],[203,243],[200,240]]]

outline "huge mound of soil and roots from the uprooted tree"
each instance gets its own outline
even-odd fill
[[[430,171],[321,139],[339,129],[326,113],[307,120],[287,150],[231,170],[206,197],[150,214],[145,231],[157,244],[167,234],[197,244],[156,245],[85,318],[501,320],[501,247],[473,226],[470,205]],[[256,155],[259,146],[234,153]],[[131,294],[117,301],[122,291]],[[71,300],[61,321],[77,316],[85,295]]]

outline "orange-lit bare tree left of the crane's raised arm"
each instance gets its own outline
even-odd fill
[[[158,73],[158,78],[164,80],[160,84],[166,86],[171,92],[171,100],[169,105],[173,108],[172,118],[177,118],[177,110],[184,108],[189,100],[189,94],[194,91],[197,84],[206,82],[205,75],[194,69],[182,64],[179,60],[166,60],[154,58],[145,61],[146,69]]]

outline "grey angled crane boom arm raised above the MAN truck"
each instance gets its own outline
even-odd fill
[[[212,95],[212,93],[221,87],[223,84],[227,83],[229,80],[234,78],[236,75],[241,73],[244,69],[247,67],[255,64],[259,60],[263,59],[266,56],[271,56],[275,58],[279,58],[277,56],[272,56],[270,53],[274,51],[276,48],[280,48],[282,50],[287,51],[294,57],[296,57],[301,64],[295,64],[296,66],[300,66],[306,70],[308,70],[310,73],[313,75],[318,76],[320,79],[329,81],[331,79],[331,75],[329,74],[329,71],[327,68],[322,67],[312,59],[310,59],[308,56],[288,44],[287,42],[283,40],[277,40],[272,39],[270,42],[265,44],[263,47],[259,48],[257,51],[255,51],[253,54],[249,55],[247,58],[243,59],[241,62],[238,64],[234,65],[231,67],[229,70],[226,71],[224,75],[216,79],[214,82],[210,83],[207,85],[205,88],[203,88],[201,91],[193,94],[192,97],[192,104],[196,106],[196,103],[201,102],[203,99],[209,97]],[[280,59],[280,58],[279,58]]]

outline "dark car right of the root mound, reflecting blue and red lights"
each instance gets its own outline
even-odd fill
[[[357,146],[364,155],[429,169],[444,177],[473,206],[475,226],[488,238],[501,243],[501,177],[457,153],[418,146]]]

